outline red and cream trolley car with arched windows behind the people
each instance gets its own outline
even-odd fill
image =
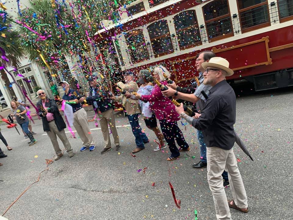
[[[164,63],[175,82],[189,84],[197,53],[212,50],[230,62],[231,82],[293,85],[293,0],[138,0],[117,15],[101,22],[95,41],[121,71]]]

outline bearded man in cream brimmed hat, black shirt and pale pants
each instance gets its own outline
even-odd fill
[[[214,197],[217,219],[230,220],[230,209],[248,212],[247,196],[233,152],[236,119],[236,96],[225,77],[233,75],[229,62],[213,57],[202,63],[204,84],[210,85],[210,95],[198,119],[187,116],[183,106],[176,108],[180,116],[196,129],[203,130],[207,145],[208,184]],[[233,200],[227,202],[221,174],[228,171]]]

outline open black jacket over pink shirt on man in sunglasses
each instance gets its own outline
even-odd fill
[[[42,117],[44,131],[50,131],[47,117],[42,115],[41,106],[42,106],[42,100],[37,102],[37,109],[38,109],[37,114],[38,116]],[[48,112],[53,114],[53,117],[55,119],[54,123],[56,124],[56,127],[58,128],[58,130],[62,131],[64,128],[66,128],[66,124],[62,116],[60,115],[60,112],[56,105],[55,100],[47,98],[45,102],[45,107],[48,107],[49,108]]]

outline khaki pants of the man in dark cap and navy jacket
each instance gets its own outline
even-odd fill
[[[110,134],[108,129],[108,123],[110,125],[110,129],[112,131],[112,135],[114,138],[115,145],[119,145],[119,137],[115,125],[115,118],[113,114],[113,110],[109,109],[106,112],[98,113],[99,122],[101,126],[101,130],[104,137],[105,148],[111,148]]]

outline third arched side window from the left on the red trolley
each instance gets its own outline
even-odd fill
[[[181,50],[201,44],[201,35],[194,10],[184,11],[173,19]]]

